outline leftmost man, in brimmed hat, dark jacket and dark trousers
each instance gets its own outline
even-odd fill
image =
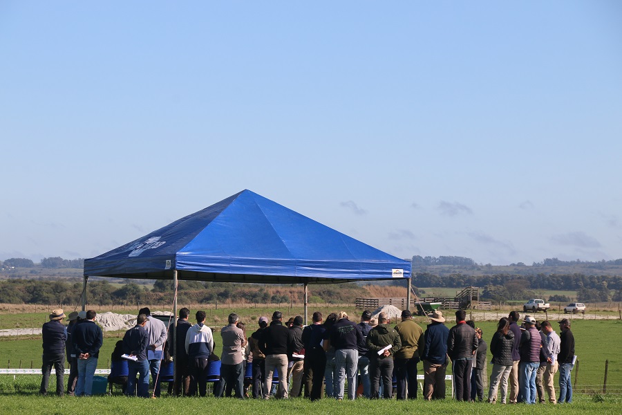
[[[50,321],[43,325],[41,335],[43,337],[43,365],[41,366],[41,387],[39,394],[48,394],[48,385],[50,383],[50,373],[52,367],[56,370],[56,394],[63,396],[65,393],[64,375],[65,375],[65,342],[67,340],[67,332],[62,323],[65,315],[62,308],[53,310],[50,314]]]

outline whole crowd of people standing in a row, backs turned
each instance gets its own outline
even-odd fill
[[[56,393],[64,394],[65,361],[70,365],[67,394],[93,393],[93,374],[103,343],[96,315],[92,310],[71,313],[65,326],[61,309],[50,314],[43,327],[40,394],[48,392],[52,368],[56,369]],[[417,365],[422,361],[425,400],[446,397],[446,369],[451,363],[456,400],[529,404],[545,403],[548,396],[550,403],[572,402],[574,336],[567,319],[558,322],[560,335],[550,322],[538,323],[529,315],[519,326],[516,311],[500,319],[490,341],[493,368],[485,398],[488,347],[482,329],[466,321],[463,310],[456,311],[451,329],[442,312],[435,311],[428,315],[425,331],[408,310],[402,311],[397,324],[390,324],[386,313],[372,318],[370,311],[364,311],[357,323],[345,311],[330,313],[326,320],[316,311],[308,326],[303,326],[301,316],[283,322],[283,314],[274,311],[270,322],[259,317],[258,329],[249,336],[238,315],[231,313],[227,326],[220,329],[220,357],[214,353],[214,333],[205,324],[205,311],[196,312],[194,325],[188,321],[189,315],[188,308],[180,309],[173,335],[173,324],[167,329],[164,322],[151,316],[149,308],[140,310],[136,325],[126,331],[115,349],[127,360],[125,394],[150,396],[151,374],[151,396],[160,396],[160,382],[156,381],[160,365],[170,362],[169,353],[176,349],[177,378],[169,385],[169,393],[178,396],[205,396],[210,365],[218,361],[220,381],[214,387],[215,396],[249,398],[250,387],[252,397],[262,399],[392,398],[395,383],[398,400],[415,399]],[[557,372],[559,398],[554,384]]]

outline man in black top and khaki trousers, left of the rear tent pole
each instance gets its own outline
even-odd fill
[[[283,313],[274,311],[270,326],[263,331],[259,349],[265,354],[265,381],[263,397],[270,398],[274,370],[279,374],[279,391],[276,398],[288,398],[288,339],[289,329],[283,325]]]

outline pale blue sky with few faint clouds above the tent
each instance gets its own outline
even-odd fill
[[[244,189],[397,257],[622,257],[622,3],[0,2],[0,259]]]

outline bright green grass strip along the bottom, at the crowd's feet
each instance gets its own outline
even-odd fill
[[[290,400],[237,400],[232,398],[159,398],[142,399],[123,396],[91,398],[57,398],[53,396],[0,396],[0,408],[5,414],[218,414],[218,415],[364,415],[391,414],[529,414],[534,411],[558,414],[619,414],[620,402],[605,399],[576,398],[569,405],[490,405],[460,403],[455,400],[426,402],[424,400],[368,400],[353,402],[322,399],[311,402],[303,398]]]

